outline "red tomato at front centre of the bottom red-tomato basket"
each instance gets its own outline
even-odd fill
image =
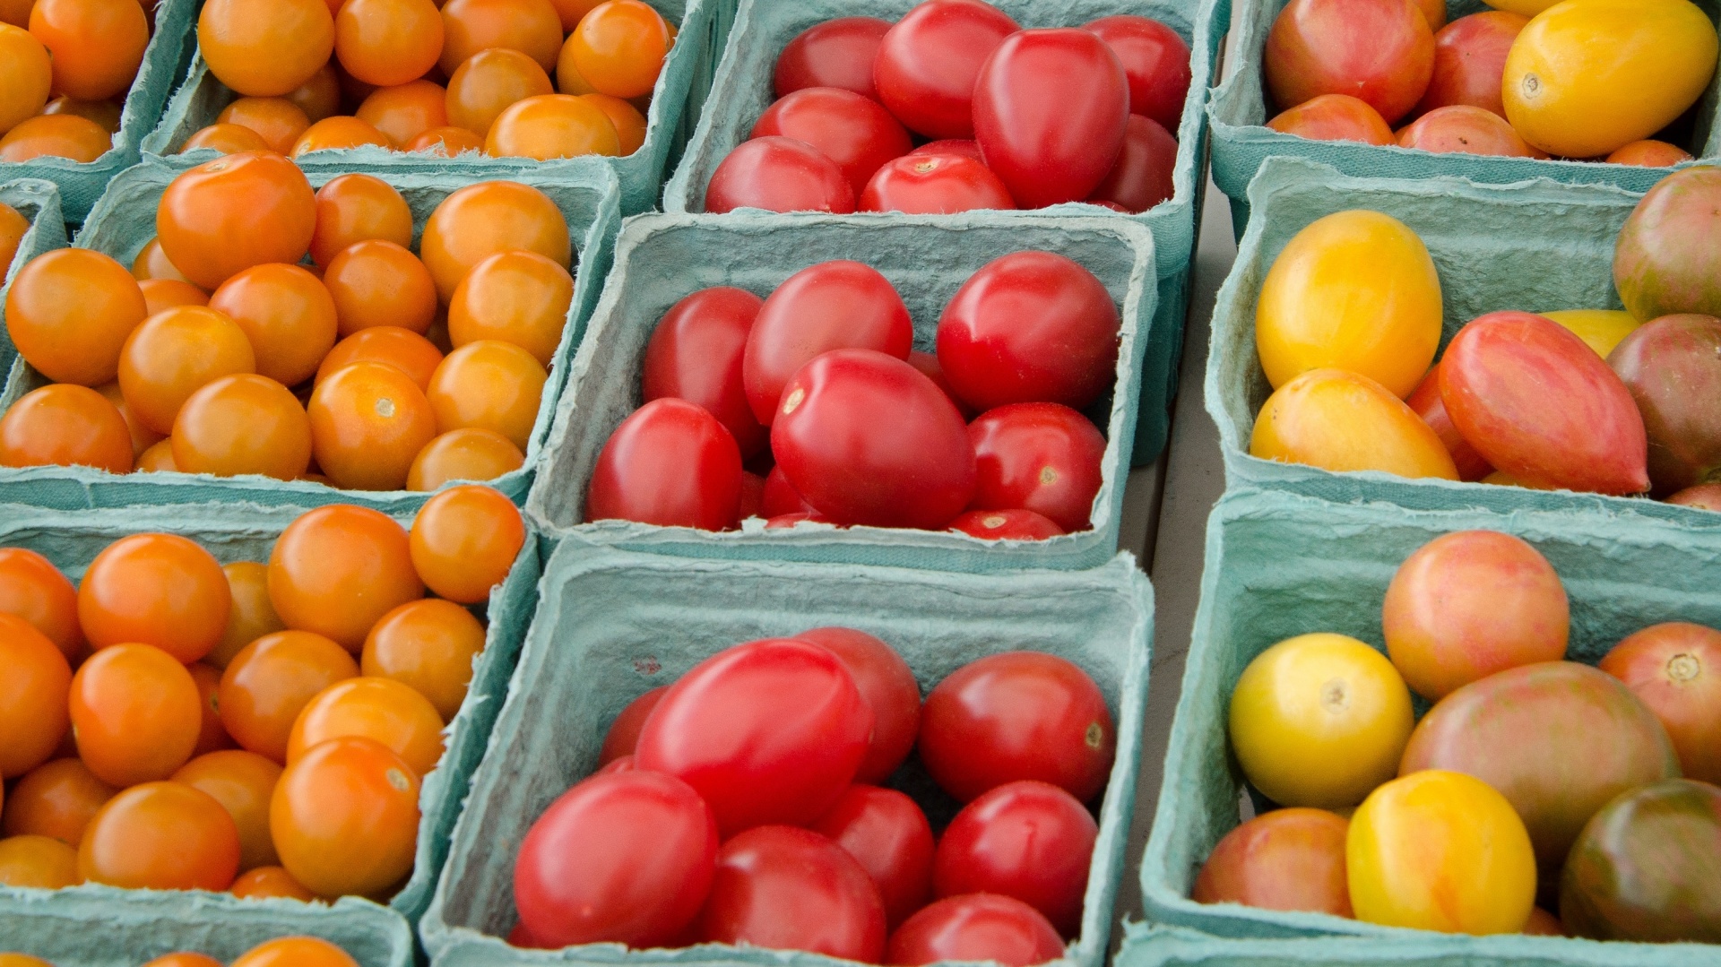
[[[885,903],[836,843],[807,829],[761,826],[723,843],[699,938],[878,964]]]

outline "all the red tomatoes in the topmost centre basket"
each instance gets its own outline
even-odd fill
[[[926,0],[802,33],[774,88],[707,212],[1146,212],[1172,196],[1189,45],[1146,17],[1022,29],[983,0]]]

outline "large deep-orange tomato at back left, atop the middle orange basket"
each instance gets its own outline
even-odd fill
[[[229,2],[212,0],[203,15]],[[298,262],[310,248],[315,222],[317,196],[310,182],[298,165],[274,151],[205,162],[176,177],[155,210],[162,251],[203,289],[215,289],[253,265]]]

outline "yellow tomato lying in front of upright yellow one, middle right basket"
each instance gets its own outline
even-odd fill
[[[1440,437],[1368,377],[1313,370],[1279,387],[1249,435],[1249,454],[1323,470],[1380,470],[1458,480]]]

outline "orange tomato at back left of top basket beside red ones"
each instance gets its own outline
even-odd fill
[[[334,15],[324,0],[208,0],[198,14],[198,48],[234,91],[291,95],[329,64]]]

